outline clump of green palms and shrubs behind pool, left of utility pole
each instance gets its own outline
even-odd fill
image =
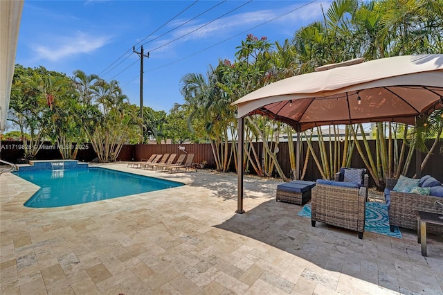
[[[136,111],[116,81],[16,65],[8,120],[20,129],[25,157],[35,157],[49,139],[63,159],[75,159],[76,143],[89,140],[100,161],[116,161],[123,143],[137,134]]]

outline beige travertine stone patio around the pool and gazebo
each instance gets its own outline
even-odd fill
[[[443,294],[443,237],[325,224],[275,202],[278,181],[209,170],[186,186],[64,208],[26,208],[33,184],[3,173],[0,294]]]

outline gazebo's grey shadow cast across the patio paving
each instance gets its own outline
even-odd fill
[[[297,216],[301,208],[272,199],[216,227],[314,263],[329,275],[305,269],[302,276],[332,289],[345,274],[401,294],[443,294],[443,237],[428,238],[424,258],[413,231],[401,229],[403,239],[366,231],[359,240],[354,231],[312,227],[310,218]]]

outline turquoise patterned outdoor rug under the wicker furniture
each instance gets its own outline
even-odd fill
[[[395,226],[395,231],[393,233],[390,231],[388,208],[386,207],[386,204],[366,202],[365,213],[365,231],[371,231],[372,233],[379,233],[381,235],[389,235],[390,237],[399,239],[403,238],[397,226]],[[311,218],[311,204],[303,206],[302,210],[300,210],[297,215]]]

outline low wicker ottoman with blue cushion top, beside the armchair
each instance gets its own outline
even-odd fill
[[[291,204],[304,205],[311,199],[311,188],[315,182],[294,180],[277,186],[275,200]]]

